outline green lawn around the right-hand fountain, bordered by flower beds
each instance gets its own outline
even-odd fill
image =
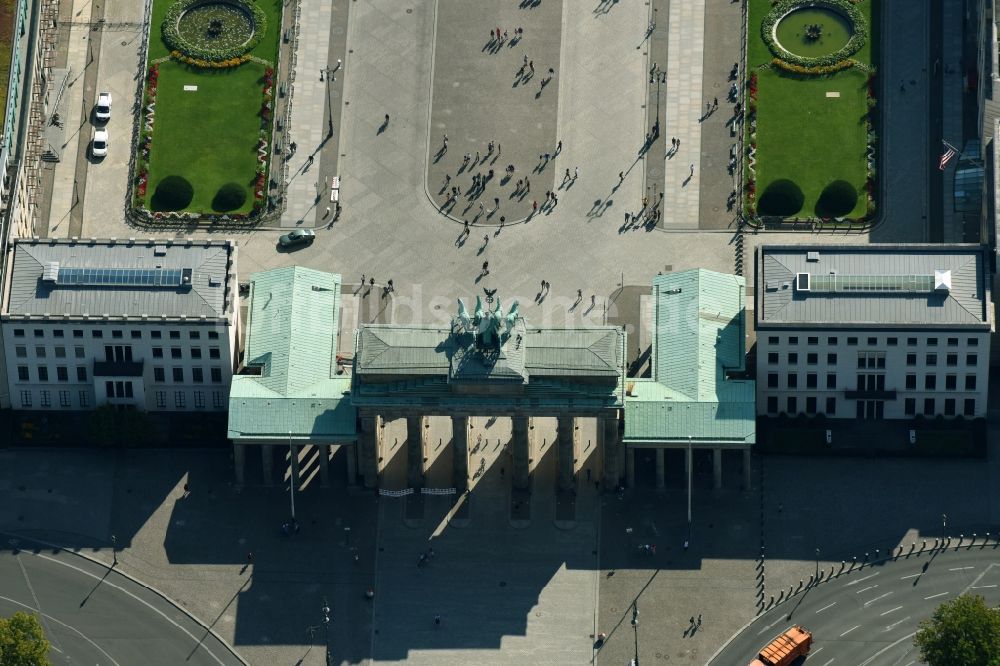
[[[869,16],[870,36],[852,57],[867,64],[873,64],[878,55],[876,1],[862,0],[857,5]],[[830,217],[834,213],[823,202],[830,197],[828,186],[837,183],[831,189],[848,190],[856,194],[857,202],[850,212],[836,215],[863,217],[867,212],[867,74],[847,69],[801,76],[777,67],[760,69],[774,57],[760,38],[761,21],[770,10],[770,0],[750,0],[747,72],[758,75],[757,201],[768,192],[772,197],[779,193],[783,205],[778,208],[786,218]],[[840,96],[827,97],[827,93]],[[824,191],[827,197],[822,196]],[[765,206],[760,207],[763,214]]]

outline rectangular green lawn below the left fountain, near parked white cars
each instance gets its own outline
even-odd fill
[[[147,206],[160,181],[181,176],[194,187],[185,210],[211,212],[216,193],[227,183],[246,188],[244,205],[229,212],[251,210],[263,76],[264,66],[255,62],[224,70],[199,70],[172,60],[160,65]],[[198,90],[185,91],[185,85]]]

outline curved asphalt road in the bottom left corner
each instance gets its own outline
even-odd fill
[[[163,597],[66,551],[0,553],[0,615],[17,611],[41,616],[54,664],[246,663]]]

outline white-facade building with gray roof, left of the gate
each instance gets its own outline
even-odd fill
[[[14,409],[227,408],[232,241],[21,239],[10,252],[0,333]]]

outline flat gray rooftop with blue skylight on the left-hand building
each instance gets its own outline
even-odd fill
[[[18,240],[4,315],[225,317],[230,241]]]

